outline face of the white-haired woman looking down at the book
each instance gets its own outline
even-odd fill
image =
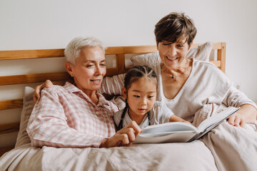
[[[66,70],[74,77],[76,86],[88,95],[101,88],[106,74],[104,51],[100,47],[81,48],[75,65],[66,63]]]

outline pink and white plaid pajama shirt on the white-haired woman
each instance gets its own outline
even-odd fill
[[[99,103],[71,83],[41,91],[29,118],[31,145],[42,147],[99,147],[115,134],[113,115],[118,107],[98,94]]]

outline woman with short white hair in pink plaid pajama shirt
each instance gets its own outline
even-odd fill
[[[116,133],[118,107],[96,91],[106,74],[105,47],[91,37],[74,38],[66,47],[66,71],[74,84],[41,91],[29,119],[31,145],[42,147],[115,147],[129,145],[141,128],[131,122]]]

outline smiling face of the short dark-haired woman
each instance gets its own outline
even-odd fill
[[[179,68],[190,50],[186,38],[180,38],[175,43],[170,43],[168,41],[159,42],[157,48],[162,63],[166,68],[171,69]]]

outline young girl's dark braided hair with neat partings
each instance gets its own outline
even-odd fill
[[[153,78],[157,84],[157,76],[156,73],[153,71],[152,68],[148,66],[133,66],[129,71],[126,73],[124,78],[124,87],[126,88],[126,92],[128,92],[129,88],[131,88],[131,84],[138,81],[140,78]],[[126,114],[126,110],[129,108],[129,103],[126,99],[126,106],[121,114],[121,121],[117,127],[117,131],[123,128],[123,120]],[[150,111],[149,111],[150,112]]]

